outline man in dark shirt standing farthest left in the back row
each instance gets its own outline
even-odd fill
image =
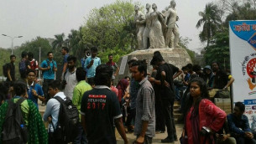
[[[11,62],[3,65],[3,75],[7,77],[6,81],[15,81],[15,55],[10,55]]]

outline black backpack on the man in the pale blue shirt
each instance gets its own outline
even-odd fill
[[[68,143],[75,140],[79,131],[79,112],[69,97],[62,100],[60,96],[54,97],[60,102],[60,112],[57,126],[55,129],[55,138],[60,139],[62,143]]]

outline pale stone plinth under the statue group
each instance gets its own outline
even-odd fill
[[[136,50],[130,54],[124,55],[118,60],[118,65],[120,67],[119,75],[116,77],[115,84],[125,76],[131,76],[128,69],[127,62],[134,57],[138,60],[147,59],[148,61],[148,73],[152,72],[152,65],[150,61],[153,58],[155,51],[159,51],[165,61],[169,64],[174,64],[176,67],[180,68],[186,64],[192,63],[190,55],[183,48],[165,48],[165,49],[143,49]]]

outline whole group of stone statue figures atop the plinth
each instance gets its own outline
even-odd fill
[[[146,4],[146,14],[134,6],[134,22],[137,28],[138,49],[179,48],[179,36],[176,21],[176,3],[170,1],[170,6],[162,12],[157,10],[155,3]],[[174,38],[173,38],[174,36]]]

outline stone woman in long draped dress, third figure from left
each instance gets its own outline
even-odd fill
[[[162,24],[165,28],[165,20],[163,14],[157,11],[155,3],[152,4],[154,12],[150,13],[151,27],[149,32],[149,42],[151,49],[165,48],[165,39],[162,32]]]

